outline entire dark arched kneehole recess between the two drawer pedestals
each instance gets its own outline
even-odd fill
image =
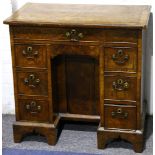
[[[88,56],[57,56],[53,66],[55,111],[98,115],[98,61]]]

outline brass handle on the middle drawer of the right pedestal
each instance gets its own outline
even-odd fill
[[[118,79],[112,83],[112,87],[114,90],[122,91],[129,88],[129,83],[123,79]]]

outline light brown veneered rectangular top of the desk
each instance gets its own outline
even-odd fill
[[[150,6],[27,3],[4,21],[10,25],[145,28]]]

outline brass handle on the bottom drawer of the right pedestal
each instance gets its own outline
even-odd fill
[[[128,113],[127,112],[123,112],[121,108],[118,108],[116,111],[112,111],[111,112],[111,116],[113,118],[126,119],[128,117]]]

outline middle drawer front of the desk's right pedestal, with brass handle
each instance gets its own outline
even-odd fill
[[[136,101],[136,77],[106,75],[104,77],[104,98]]]

